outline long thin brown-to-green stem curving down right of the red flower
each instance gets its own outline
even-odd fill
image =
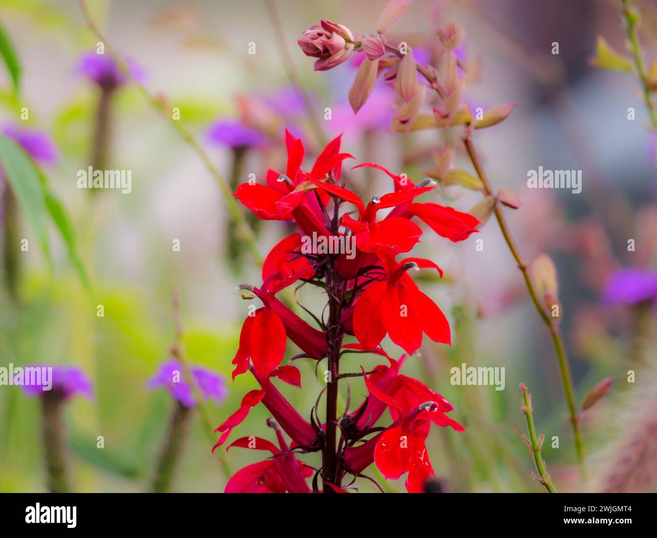
[[[476,150],[474,149],[472,138],[470,137],[469,132],[464,138],[464,144],[468,152],[468,156],[470,156],[470,160],[472,161],[472,166],[474,166],[479,179],[481,179],[482,183],[484,184],[484,192],[486,195],[493,195],[493,189],[491,188],[491,184],[486,177],[484,169],[482,168],[482,164],[479,160]],[[581,474],[582,480],[585,480],[586,469],[584,466],[584,443],[582,440],[581,431],[579,430],[575,390],[573,388],[572,376],[570,375],[570,367],[568,366],[568,357],[566,355],[566,348],[564,347],[561,333],[559,331],[558,325],[556,325],[555,320],[547,313],[547,311],[545,311],[545,308],[543,308],[543,305],[541,305],[541,302],[539,301],[538,294],[533,285],[532,279],[530,279],[528,266],[520,256],[518,247],[516,246],[513,236],[510,233],[507,219],[505,219],[504,213],[502,212],[499,204],[495,204],[495,218],[497,219],[499,229],[502,231],[502,235],[504,236],[507,245],[509,246],[509,250],[511,251],[513,258],[516,260],[516,263],[518,263],[518,269],[520,269],[522,272],[522,277],[525,280],[527,291],[532,298],[532,302],[536,307],[539,315],[541,315],[543,323],[545,323],[550,331],[553,346],[555,347],[556,359],[559,365],[561,382],[564,387],[564,393],[566,394],[566,402],[568,403],[568,413],[570,415],[570,423],[572,425],[573,435],[575,438],[575,449],[579,461],[579,472]]]

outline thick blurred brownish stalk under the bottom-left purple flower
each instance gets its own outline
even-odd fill
[[[50,390],[41,396],[43,412],[43,450],[48,477],[48,489],[51,493],[68,493],[70,483],[66,468],[66,439],[62,406],[64,394]]]

